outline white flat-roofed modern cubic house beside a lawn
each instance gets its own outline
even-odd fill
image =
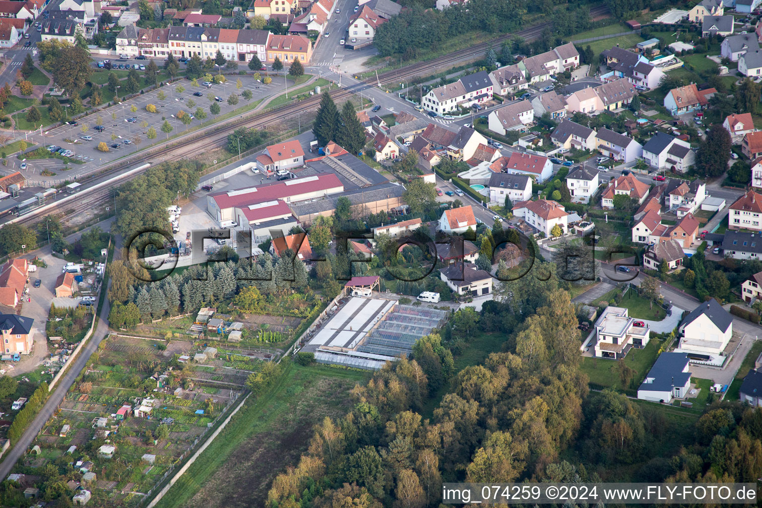
[[[610,305],[595,321],[594,355],[597,358],[621,359],[633,347],[643,349],[651,335],[648,325],[627,315],[627,309]]]

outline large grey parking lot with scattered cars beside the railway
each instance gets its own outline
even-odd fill
[[[236,88],[236,81],[239,78],[242,81],[242,88]],[[184,90],[178,92],[178,85],[184,88]],[[240,95],[244,90],[251,91],[253,95],[251,101],[245,101],[243,97],[239,97],[239,104],[230,105],[227,103],[227,99],[231,94]],[[164,100],[158,99],[159,91],[165,94]],[[60,180],[62,177],[72,179],[82,176],[95,171],[107,162],[135,152],[137,148],[134,142],[136,136],[140,137],[141,146],[145,147],[147,142],[150,141],[146,138],[149,127],[156,129],[156,141],[166,139],[168,137],[167,134],[161,131],[164,119],[168,120],[173,128],[172,132],[169,133],[170,136],[181,133],[187,128],[176,116],[181,110],[192,114],[197,107],[201,107],[207,113],[207,118],[204,120],[194,119],[188,126],[191,127],[199,122],[213,118],[209,107],[215,102],[219,104],[219,114],[224,115],[232,110],[244,107],[248,103],[261,101],[263,98],[274,94],[280,94],[282,91],[285,91],[283,76],[274,77],[270,85],[264,85],[260,81],[255,80],[251,75],[232,75],[229,76],[229,81],[219,85],[212,85],[210,88],[203,86],[202,83],[194,87],[191,85],[191,81],[187,79],[175,81],[171,85],[165,85],[158,90],[150,91],[129,101],[88,115],[78,120],[76,125],[62,125],[55,129],[50,129],[50,131],[47,131],[42,136],[42,139],[39,136],[34,136],[32,140],[39,144],[57,145],[65,149],[71,149],[75,152],[72,158],[84,163],[71,165],[66,174],[60,174],[59,171],[64,168],[64,162],[59,159],[30,160],[27,161],[26,170],[22,172],[27,177],[33,177],[36,181],[45,178]],[[215,101],[214,97],[220,97],[223,101]],[[190,101],[193,101],[195,104]],[[146,110],[148,104],[155,105],[157,112],[149,113]],[[131,111],[133,107],[135,108],[134,112]],[[101,124],[100,126],[98,125],[99,123]],[[85,130],[83,130],[83,126],[86,126]],[[83,136],[90,136],[92,139],[83,140]],[[125,144],[126,141],[129,144]],[[119,148],[111,148],[110,152],[100,152],[97,149],[99,142],[106,142],[108,145],[116,144]],[[14,169],[18,169],[20,164],[20,162],[15,163]],[[56,176],[40,174],[46,170],[56,173]]]

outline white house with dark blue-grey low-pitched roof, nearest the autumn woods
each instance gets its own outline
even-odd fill
[[[685,353],[661,353],[638,388],[638,398],[671,404],[672,399],[685,397],[693,375],[689,365]]]

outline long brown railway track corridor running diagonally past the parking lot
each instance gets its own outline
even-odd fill
[[[601,14],[605,14],[607,11],[608,8],[605,5],[600,5],[596,8],[591,9],[590,14],[591,17],[594,18],[596,16],[600,16]],[[366,88],[372,88],[379,82],[383,85],[401,79],[405,80],[409,78],[425,76],[431,74],[431,71],[435,71],[440,65],[447,65],[447,63],[455,62],[460,59],[468,59],[469,56],[474,56],[473,59],[478,59],[475,58],[475,55],[485,52],[490,46],[503,43],[506,40],[511,40],[511,38],[516,36],[523,37],[524,40],[533,40],[536,37],[539,37],[543,31],[550,26],[551,23],[549,22],[538,24],[527,28],[526,30],[520,30],[519,32],[514,32],[512,34],[505,34],[504,36],[496,37],[495,39],[488,42],[476,44],[475,46],[469,47],[466,50],[458,50],[453,53],[449,53],[446,56],[440,56],[436,59],[428,60],[427,62],[423,62],[421,65],[406,65],[401,69],[383,72],[378,75],[377,79],[375,76],[373,76],[372,78],[363,80],[364,85],[356,85],[351,88],[332,91],[331,97],[333,97],[334,101],[341,101],[345,98],[351,97],[351,95],[358,91],[363,91]],[[181,139],[172,145],[162,146],[158,149],[148,149],[135,158],[117,163],[111,168],[108,168],[106,171],[101,171],[101,173],[97,175],[86,177],[80,180],[79,183],[96,184],[98,181],[104,181],[109,177],[113,177],[114,174],[123,171],[125,168],[144,164],[156,165],[163,161],[182,157],[191,150],[193,152],[204,152],[208,149],[218,148],[220,145],[223,145],[226,142],[228,133],[230,133],[232,130],[239,129],[241,127],[260,128],[262,126],[266,126],[268,123],[272,123],[274,120],[284,117],[291,117],[294,114],[315,109],[318,107],[319,103],[320,97],[312,96],[304,101],[300,101],[294,104],[286,104],[282,107],[277,107],[274,110],[267,111],[266,113],[261,113],[258,115],[255,114],[249,117],[240,117],[228,123],[208,127],[207,129],[203,129],[189,139]],[[198,139],[199,136],[203,136],[203,138]],[[109,199],[112,190],[122,183],[123,181],[120,181],[118,184],[115,183],[112,187],[103,187],[91,192],[87,192],[85,189],[82,191],[83,195],[86,194],[87,196],[84,200],[78,201],[73,207],[69,206],[69,203],[63,203],[61,208],[67,210],[73,209],[74,212],[84,212],[85,210],[94,209],[98,206],[101,206],[105,200]],[[53,207],[52,210],[47,210],[46,213],[61,211],[63,210],[58,210],[56,207]],[[16,222],[24,224],[35,222],[37,219],[39,219],[37,214],[32,211],[26,216],[19,218]],[[2,225],[0,225],[0,227],[2,227]]]

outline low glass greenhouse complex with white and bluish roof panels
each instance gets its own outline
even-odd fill
[[[320,363],[380,369],[409,354],[416,340],[446,319],[447,311],[436,308],[353,296],[333,311],[303,350],[315,353]]]

